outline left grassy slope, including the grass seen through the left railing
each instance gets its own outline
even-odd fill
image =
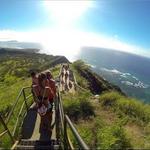
[[[31,85],[29,71],[35,69],[38,72],[55,66],[57,63],[65,62],[64,57],[49,56],[45,54],[25,53],[25,52],[1,52],[0,51],[0,113],[6,119],[17,95],[22,87]],[[58,76],[60,66],[51,67],[54,76]],[[29,91],[30,92],[30,91]],[[32,100],[31,100],[32,101]],[[30,102],[31,102],[30,101]],[[23,102],[23,97],[19,100],[15,113],[8,124],[12,132],[16,121],[16,115]],[[29,102],[29,103],[30,103]],[[0,124],[0,133],[4,128]],[[6,134],[0,143],[0,147],[9,148],[10,139]]]

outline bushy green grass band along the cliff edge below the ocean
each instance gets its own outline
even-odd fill
[[[144,104],[136,99],[122,96],[117,92],[106,92],[100,96],[100,103],[110,107],[119,115],[128,117],[147,124],[150,122],[150,105]]]

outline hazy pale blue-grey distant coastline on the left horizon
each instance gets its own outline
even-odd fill
[[[1,48],[17,48],[17,49],[42,49],[42,45],[36,42],[19,42],[16,40],[11,41],[0,41]]]

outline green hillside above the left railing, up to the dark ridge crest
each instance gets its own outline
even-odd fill
[[[34,50],[0,49],[0,113],[7,114],[23,86],[30,86],[30,71],[37,72],[67,63],[64,56],[35,53]]]

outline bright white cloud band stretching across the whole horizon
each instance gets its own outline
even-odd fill
[[[73,29],[61,30],[57,28],[38,31],[20,32],[14,30],[0,30],[0,41],[18,40],[25,42],[39,42],[44,45],[46,53],[73,56],[82,46],[104,47],[126,51],[150,57],[150,50],[137,45],[131,45],[118,39],[92,32],[81,32]]]

